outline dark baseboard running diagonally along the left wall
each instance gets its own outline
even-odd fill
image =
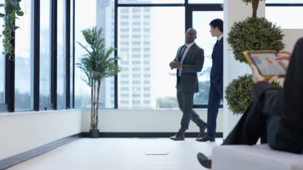
[[[42,155],[53,149],[56,149],[64,144],[77,140],[81,137],[82,137],[82,133],[71,135],[71,136],[56,140],[54,142],[48,143],[46,145],[42,145],[42,146],[32,149],[30,151],[26,151],[21,154],[17,154],[15,156],[11,156],[11,157],[2,159],[2,160],[0,160],[0,170],[5,170],[5,169],[15,166],[17,164],[20,164],[24,161],[27,161],[29,159]]]

